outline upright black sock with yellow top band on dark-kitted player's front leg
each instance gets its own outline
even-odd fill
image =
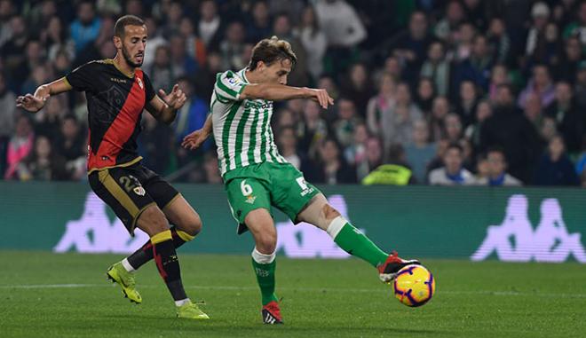
[[[153,255],[159,274],[167,284],[173,300],[181,301],[187,298],[181,282],[181,269],[170,230],[160,232],[151,238]]]

